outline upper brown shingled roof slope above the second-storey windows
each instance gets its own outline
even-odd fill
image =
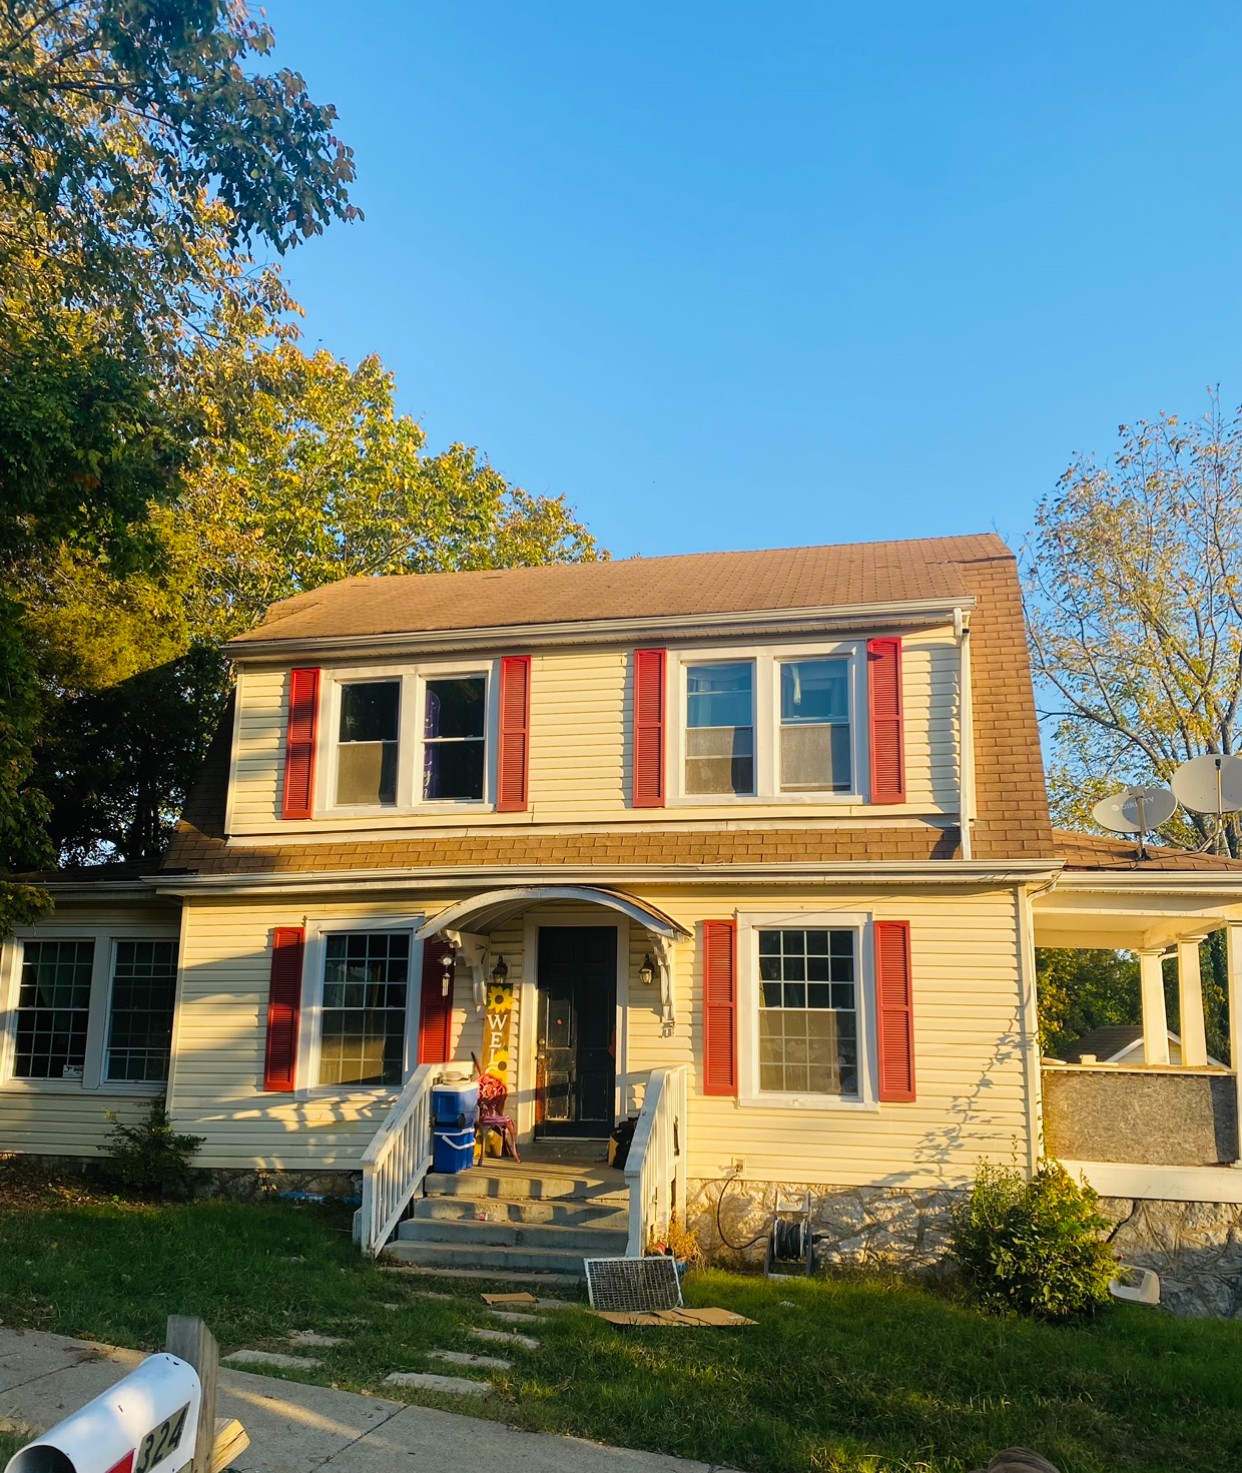
[[[959,564],[987,557],[1008,557],[993,533],[346,577],[274,604],[258,629],[233,645],[961,598],[966,586]]]

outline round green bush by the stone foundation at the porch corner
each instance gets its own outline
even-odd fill
[[[1055,1161],[1040,1162],[1030,1181],[980,1167],[950,1230],[964,1283],[990,1308],[1042,1320],[1093,1314],[1117,1274],[1098,1200]]]

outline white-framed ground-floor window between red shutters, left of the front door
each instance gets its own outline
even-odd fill
[[[399,1090],[418,1058],[423,918],[340,918],[306,928],[298,1089]]]

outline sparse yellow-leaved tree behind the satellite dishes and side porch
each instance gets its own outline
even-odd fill
[[[1242,415],[1211,395],[1198,421],[1161,414],[1118,433],[1111,464],[1074,458],[1025,549],[1031,663],[1053,722],[1049,797],[1074,828],[1092,828],[1093,804],[1121,784],[1167,784],[1190,757],[1242,748]],[[1159,840],[1239,857],[1242,815],[1179,809]],[[1109,977],[1129,999],[1129,969],[1080,956],[1076,1006],[1106,1021]],[[1208,1047],[1227,1058],[1218,932],[1202,971]]]

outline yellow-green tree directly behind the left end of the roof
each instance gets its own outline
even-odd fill
[[[267,607],[340,577],[594,558],[564,498],[477,454],[424,454],[379,359],[292,343],[203,355],[203,433],[183,495],[156,505],[159,558],[118,574],[65,549],[31,629],[55,688],[40,785],[65,857],[158,857],[227,689],[220,645]]]

